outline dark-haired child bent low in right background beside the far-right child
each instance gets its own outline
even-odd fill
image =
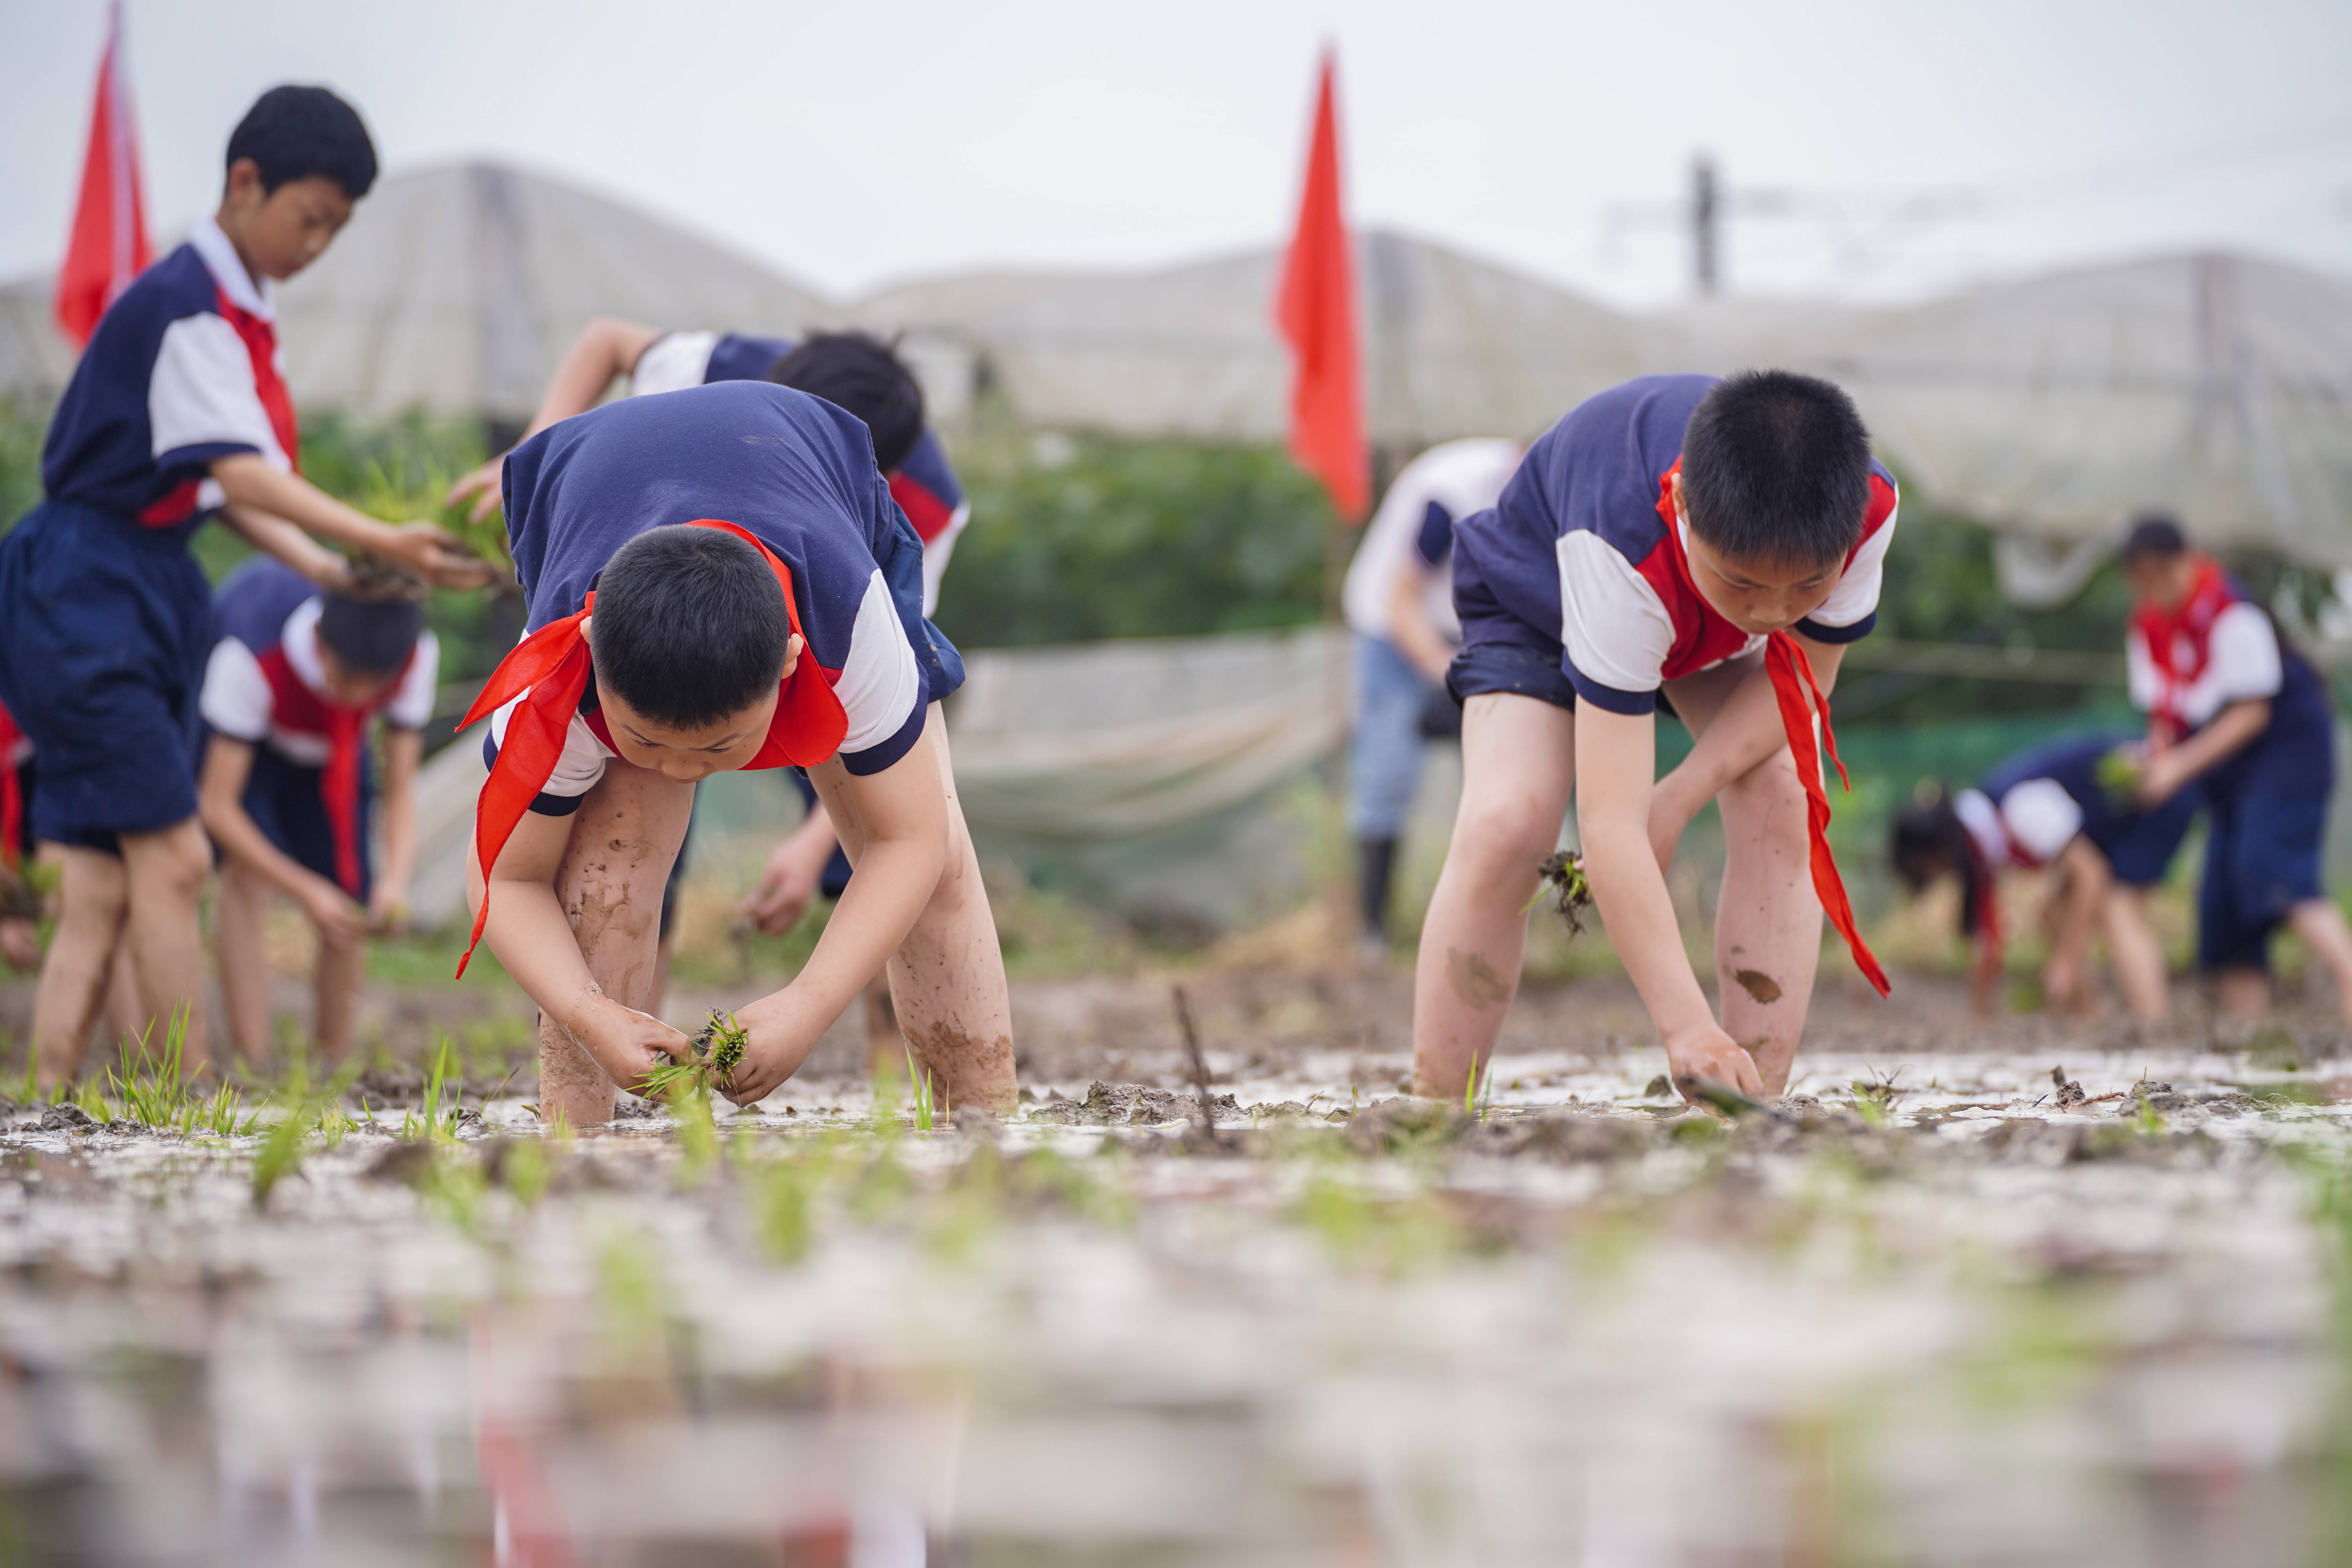
[[[2129,759],[2129,748],[2126,736],[2056,741],[2009,757],[1957,795],[1931,783],[1896,813],[1893,865],[1903,882],[1919,891],[1938,877],[1959,877],[1959,931],[1976,947],[1971,990],[1980,1016],[1999,1006],[1999,879],[2011,870],[2053,875],[2044,905],[2051,950],[2042,969],[2051,1006],[2091,1011],[2091,938],[2105,931],[2131,1016],[2159,1023],[2169,1013],[2147,889],[2171,870],[2197,816],[2197,790],[2150,809],[2129,790],[2117,797],[2100,773],[2112,773],[2110,759]]]

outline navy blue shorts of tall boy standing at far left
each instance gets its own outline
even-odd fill
[[[0,538],[0,703],[33,738],[33,835],[118,849],[195,816],[212,585],[186,529],[42,501]]]

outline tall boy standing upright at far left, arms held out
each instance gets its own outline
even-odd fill
[[[125,924],[143,1027],[186,1009],[186,1063],[205,1065],[195,693],[212,592],[195,529],[221,512],[320,583],[346,569],[313,534],[442,585],[485,581],[440,529],[362,517],[294,473],[270,289],[374,179],[348,103],[261,94],[228,139],[219,212],[99,320],[42,444],[47,498],[0,541],[0,703],[40,755],[33,832],[66,860],[33,999],[45,1086],[80,1065]]]

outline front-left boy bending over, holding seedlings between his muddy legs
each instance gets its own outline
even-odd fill
[[[468,715],[492,717],[468,896],[541,1009],[541,1112],[607,1121],[614,1084],[691,1056],[637,1011],[663,879],[696,780],[774,766],[807,769],[858,875],[807,969],[736,1009],[724,1093],[771,1093],[887,964],[934,1088],[1007,1110],[1004,959],[938,717],[962,658],[866,425],[760,381],[633,397],[508,454],[503,496],[532,632]]]

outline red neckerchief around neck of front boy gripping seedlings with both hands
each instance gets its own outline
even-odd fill
[[[783,590],[783,614],[793,632],[800,635],[800,602],[793,597],[793,571],[776,559],[774,550],[760,543],[748,529],[720,522],[717,517],[696,517],[682,527],[727,529],[755,548],[776,574],[776,585]],[[515,712],[506,717],[506,741],[499,745],[499,759],[482,783],[482,797],[473,813],[473,851],[482,863],[482,907],[473,917],[473,940],[466,943],[466,957],[456,961],[459,976],[473,961],[473,950],[482,945],[482,926],[489,922],[489,872],[499,865],[506,842],[515,835],[515,823],[522,820],[522,813],[532,809],[539,792],[548,788],[548,778],[555,776],[555,764],[564,755],[564,731],[572,729],[572,715],[579,712],[581,696],[588,691],[588,637],[581,632],[581,623],[590,614],[595,614],[593,590],[579,614],[550,621],[524,637],[492,670],[482,696],[473,698],[473,708],[456,724],[466,729],[506,708],[517,696],[522,698],[515,703]],[[760,752],[743,764],[746,771],[804,769],[842,750],[842,738],[849,736],[849,715],[842,710],[842,698],[833,696],[833,684],[811,654],[814,649],[809,649],[802,635],[800,663],[793,665],[793,672],[776,689],[776,717],[769,719],[767,741],[760,745]],[[609,733],[600,738],[609,745]]]

